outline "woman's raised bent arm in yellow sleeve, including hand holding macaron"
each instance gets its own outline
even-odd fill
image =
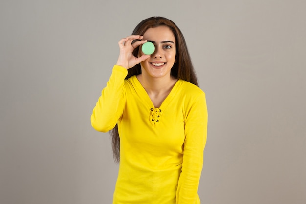
[[[123,113],[125,105],[124,79],[128,74],[127,70],[150,57],[149,55],[135,57],[132,54],[136,47],[146,42],[141,40],[142,38],[143,36],[132,35],[118,42],[120,53],[117,64],[113,67],[109,81],[102,90],[91,115],[91,125],[97,131],[107,132],[113,129]],[[132,44],[133,40],[139,41]]]

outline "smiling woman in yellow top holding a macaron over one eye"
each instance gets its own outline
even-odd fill
[[[141,51],[147,41],[151,55]],[[120,158],[113,204],[199,204],[207,108],[181,31],[151,17],[119,47],[91,115],[97,131],[112,130]]]

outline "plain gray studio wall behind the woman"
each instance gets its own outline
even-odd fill
[[[306,1],[2,0],[0,204],[110,204],[108,133],[90,115],[117,42],[182,30],[209,111],[203,204],[306,203]]]

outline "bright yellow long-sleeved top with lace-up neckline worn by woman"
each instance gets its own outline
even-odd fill
[[[207,135],[205,93],[178,80],[154,107],[136,76],[115,65],[91,124],[101,132],[118,123],[120,165],[113,204],[199,204]]]

